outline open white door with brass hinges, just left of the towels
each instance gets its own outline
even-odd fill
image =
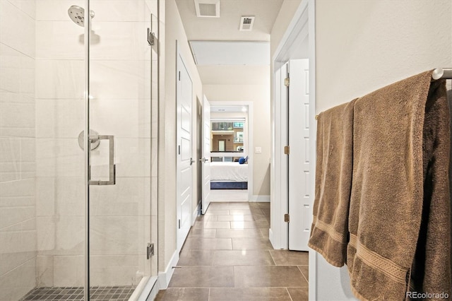
[[[289,61],[289,249],[308,251],[309,195],[309,60]]]

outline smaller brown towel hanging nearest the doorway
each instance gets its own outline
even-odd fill
[[[317,119],[316,195],[309,247],[343,266],[352,185],[353,104],[333,107]]]

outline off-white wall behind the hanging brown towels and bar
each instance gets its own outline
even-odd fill
[[[316,110],[452,65],[452,2],[316,1]],[[353,300],[346,268],[318,257],[318,300]]]

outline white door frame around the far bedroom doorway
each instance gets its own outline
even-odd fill
[[[246,117],[246,127],[248,129],[248,134],[246,140],[248,141],[248,201],[256,201],[257,196],[253,194],[253,102],[251,101],[210,101],[210,107],[219,105],[233,105],[233,106],[248,106],[248,116]]]

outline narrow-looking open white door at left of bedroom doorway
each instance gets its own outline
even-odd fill
[[[203,178],[203,214],[210,204],[210,102],[206,96],[203,99],[203,158],[201,175]]]

